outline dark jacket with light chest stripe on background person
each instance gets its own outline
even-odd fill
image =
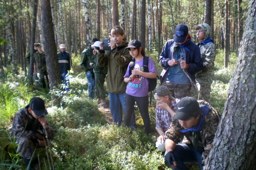
[[[70,54],[68,52],[64,52],[65,57],[62,52],[59,52],[58,55],[58,62],[59,62],[59,71],[60,72],[67,72],[71,70],[72,60]]]

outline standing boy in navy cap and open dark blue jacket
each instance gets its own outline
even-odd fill
[[[164,44],[159,63],[164,67],[161,85],[167,87],[174,98],[189,96],[191,81],[195,82],[195,73],[202,70],[203,62],[199,47],[190,40],[187,25],[179,24],[175,28],[174,38]]]

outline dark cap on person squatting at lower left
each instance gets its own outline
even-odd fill
[[[33,112],[37,116],[43,116],[48,114],[44,106],[44,101],[40,97],[31,98],[28,106],[26,107],[29,107],[31,110],[33,110]]]

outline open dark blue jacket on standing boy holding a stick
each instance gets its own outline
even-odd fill
[[[190,39],[188,42],[191,41]],[[186,42],[186,43],[188,43]],[[168,40],[163,47],[162,53],[159,56],[159,63],[162,67],[164,67],[163,71],[160,74],[160,81],[162,83],[166,71],[170,67],[168,61],[173,59],[173,50],[174,50],[175,42],[173,39]],[[189,51],[187,49],[189,49]],[[203,61],[201,59],[200,48],[195,43],[191,42],[185,45],[184,52],[185,52],[185,61],[188,64],[187,71],[189,77],[195,82],[195,73],[201,71],[203,69]],[[190,82],[191,86],[193,87],[192,82]]]

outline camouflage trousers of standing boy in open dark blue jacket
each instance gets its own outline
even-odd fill
[[[167,87],[170,91],[171,96],[174,98],[182,99],[183,97],[190,95],[190,84],[173,84],[163,82],[161,86]]]

